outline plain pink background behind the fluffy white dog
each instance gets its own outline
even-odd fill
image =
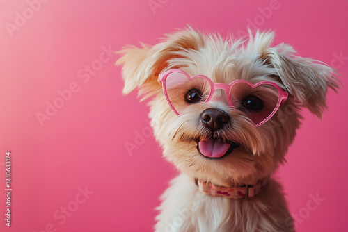
[[[321,121],[303,111],[278,179],[297,231],[348,231],[348,1],[154,1],[161,2],[155,11],[148,0],[0,1],[0,231],[152,231],[159,196],[177,173],[149,135],[145,103],[135,92],[120,94],[118,56],[102,48],[156,44],[186,24],[223,36],[251,24],[272,29],[275,44],[338,69],[342,88],[329,91]],[[61,102],[58,90],[71,85]],[[61,108],[41,125],[37,113],[45,114],[47,102]],[[138,144],[132,153],[129,143]],[[308,210],[316,194],[324,200]]]

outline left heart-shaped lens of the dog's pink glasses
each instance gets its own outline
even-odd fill
[[[188,106],[204,102],[209,96],[210,83],[202,77],[191,80],[180,72],[168,74],[165,80],[168,103],[181,114]]]

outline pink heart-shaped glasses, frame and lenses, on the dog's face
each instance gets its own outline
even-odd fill
[[[226,85],[213,83],[204,75],[189,76],[180,69],[169,69],[159,74],[164,96],[176,115],[185,113],[191,104],[207,102],[216,90],[224,90],[231,108],[242,111],[255,126],[267,122],[285,103],[287,92],[271,81],[253,85],[244,80],[232,81]]]

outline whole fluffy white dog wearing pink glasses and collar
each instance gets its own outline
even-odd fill
[[[320,117],[327,88],[338,84],[333,69],[273,40],[272,32],[223,40],[187,28],[120,51],[123,93],[151,97],[155,137],[182,173],[161,197],[156,231],[294,231],[270,176],[300,108]]]

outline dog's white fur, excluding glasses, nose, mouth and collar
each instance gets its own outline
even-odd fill
[[[216,185],[254,184],[274,174],[285,160],[299,127],[301,106],[320,117],[326,108],[327,88],[337,88],[333,69],[308,58],[294,56],[290,45],[271,47],[274,33],[256,33],[246,40],[223,40],[187,28],[154,47],[129,47],[120,51],[125,94],[140,87],[150,101],[155,138],[164,157],[182,172],[161,197],[156,231],[293,231],[293,221],[279,183],[272,180],[255,199],[209,197],[198,192],[193,178]],[[215,83],[243,79],[251,83],[273,81],[289,93],[286,103],[262,126],[253,125],[243,113],[228,106],[223,91],[207,103],[185,108],[177,117],[169,107],[158,74],[178,68],[189,75],[203,74]],[[220,159],[198,153],[193,138],[212,135],[200,121],[207,108],[224,110],[228,125],[214,136],[242,144]],[[184,213],[182,213],[184,212]]]

